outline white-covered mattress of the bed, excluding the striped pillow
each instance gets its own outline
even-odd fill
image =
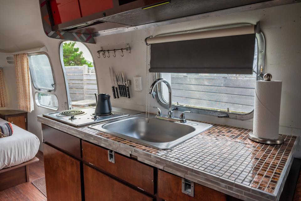
[[[8,123],[0,119],[0,125]],[[40,140],[34,134],[12,124],[13,135],[0,138],[0,170],[29,161],[39,150]]]

